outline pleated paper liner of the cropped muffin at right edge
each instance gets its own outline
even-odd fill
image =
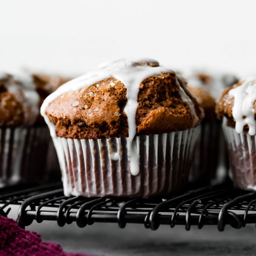
[[[256,191],[256,136],[250,136],[246,131],[238,134],[235,128],[226,126],[225,121],[222,127],[234,184],[241,189]]]

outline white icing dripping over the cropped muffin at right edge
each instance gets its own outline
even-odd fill
[[[249,77],[241,86],[229,91],[229,96],[234,97],[232,115],[236,121],[236,132],[242,133],[245,125],[249,127],[249,135],[256,134],[255,110],[256,77]]]

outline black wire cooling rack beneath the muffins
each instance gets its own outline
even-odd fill
[[[94,222],[140,223],[145,228],[160,225],[191,225],[202,229],[225,225],[239,229],[256,223],[256,192],[234,189],[229,183],[192,189],[182,195],[150,198],[86,198],[65,197],[60,183],[26,188],[16,186],[0,189],[0,214],[7,216],[10,205],[20,205],[18,223],[21,227],[34,220],[55,221],[59,226],[76,222],[83,228]]]

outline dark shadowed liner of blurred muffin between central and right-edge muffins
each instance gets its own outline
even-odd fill
[[[223,181],[227,176],[228,155],[218,120],[203,121],[195,142],[190,182]]]

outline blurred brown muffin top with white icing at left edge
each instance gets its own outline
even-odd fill
[[[38,75],[0,74],[0,127],[41,125],[40,105],[54,91]]]

